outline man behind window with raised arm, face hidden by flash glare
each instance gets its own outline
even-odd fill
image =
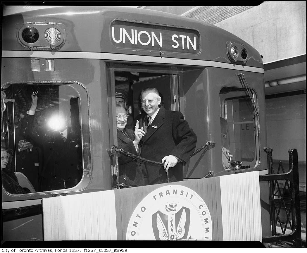
[[[26,115],[25,135],[35,145],[41,147],[43,161],[40,161],[40,191],[67,189],[76,186],[82,178],[81,133],[68,127],[68,116],[64,111],[54,115],[61,122],[48,135],[32,133],[37,96],[32,94],[32,106]],[[31,115],[32,114],[32,115]]]

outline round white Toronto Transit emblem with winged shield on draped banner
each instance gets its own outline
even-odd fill
[[[212,222],[204,200],[192,189],[167,185],[135,208],[126,240],[211,240]]]

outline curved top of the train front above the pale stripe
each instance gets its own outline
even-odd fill
[[[135,30],[144,27],[144,29],[154,27],[157,30],[160,27],[170,33],[191,31],[191,34],[199,36],[199,50],[196,50],[196,53],[186,53],[183,50],[182,52],[164,51],[165,45],[160,47],[160,50],[141,47],[121,48],[112,43],[111,39],[110,27],[115,21],[118,21],[119,25],[125,24],[126,27],[129,24],[136,25],[136,28],[131,26]],[[4,15],[2,17],[2,50],[29,50],[20,45],[16,39],[16,29],[24,22],[63,24],[66,41],[58,49],[63,52],[122,53],[157,57],[161,57],[162,53],[163,57],[233,63],[227,57],[227,43],[233,42],[247,49],[246,66],[263,68],[260,54],[239,37],[203,21],[160,11],[127,6],[59,6]]]

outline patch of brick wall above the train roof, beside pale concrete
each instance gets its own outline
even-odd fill
[[[184,16],[214,25],[253,7],[255,6],[200,6]]]

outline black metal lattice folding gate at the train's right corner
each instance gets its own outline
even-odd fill
[[[259,180],[269,181],[271,236],[263,237],[262,243],[288,241],[292,242],[294,247],[301,247],[301,210],[297,150],[288,150],[289,170],[287,172],[285,172],[282,162],[279,162],[278,169],[274,170],[272,148],[266,147],[264,151],[267,154],[269,174],[260,176]],[[285,181],[285,183],[282,185],[278,181]],[[290,205],[285,202],[285,193],[290,193]],[[286,214],[285,223],[281,221],[281,212]],[[277,225],[280,226],[282,234],[276,232]],[[291,233],[286,234],[288,225]]]

